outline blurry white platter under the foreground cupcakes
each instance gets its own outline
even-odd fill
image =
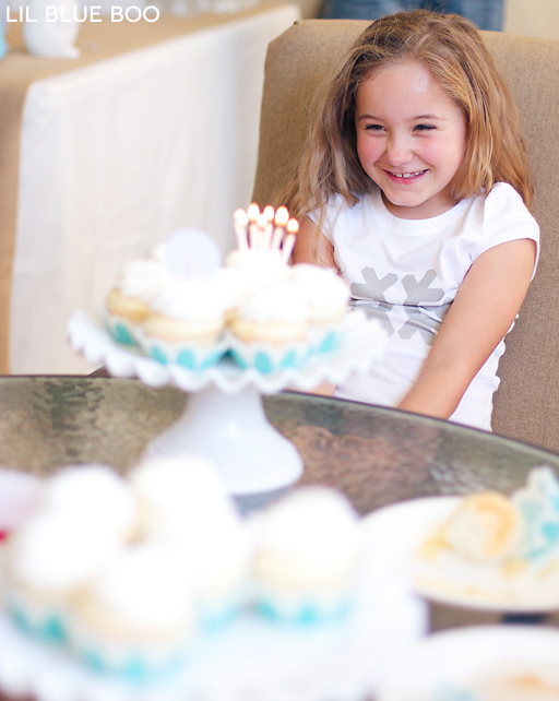
[[[425,602],[366,558],[343,621],[296,627],[242,615],[197,642],[180,675],[141,689],[34,642],[0,611],[0,689],[35,701],[362,701],[427,627]]]

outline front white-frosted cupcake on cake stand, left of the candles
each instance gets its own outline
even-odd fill
[[[210,281],[174,280],[152,302],[140,335],[143,349],[167,365],[191,370],[214,365],[225,353],[223,296]]]

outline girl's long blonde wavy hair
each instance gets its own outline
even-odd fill
[[[301,221],[319,211],[323,222],[332,194],[354,205],[377,187],[357,157],[357,91],[379,68],[407,61],[426,66],[464,111],[466,147],[453,197],[462,200],[509,182],[530,207],[533,185],[516,106],[478,29],[459,15],[417,10],[369,25],[317,94],[306,145],[280,195],[292,216]]]

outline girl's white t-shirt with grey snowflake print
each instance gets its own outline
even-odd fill
[[[311,218],[318,222],[318,214]],[[428,219],[395,217],[378,189],[353,207],[335,195],[328,205],[323,233],[334,246],[352,304],[378,318],[389,334],[383,358],[366,376],[350,376],[336,388],[336,396],[385,406],[395,406],[415,382],[476,258],[515,239],[530,238],[539,245],[536,221],[520,194],[503,182],[487,197],[462,200]],[[501,341],[450,420],[490,430],[503,352]]]

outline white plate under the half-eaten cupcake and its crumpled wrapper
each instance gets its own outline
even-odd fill
[[[507,571],[441,549],[429,558],[420,546],[460,497],[428,497],[385,507],[365,519],[376,557],[405,577],[419,594],[443,604],[497,611],[559,609],[559,558],[555,567]]]

